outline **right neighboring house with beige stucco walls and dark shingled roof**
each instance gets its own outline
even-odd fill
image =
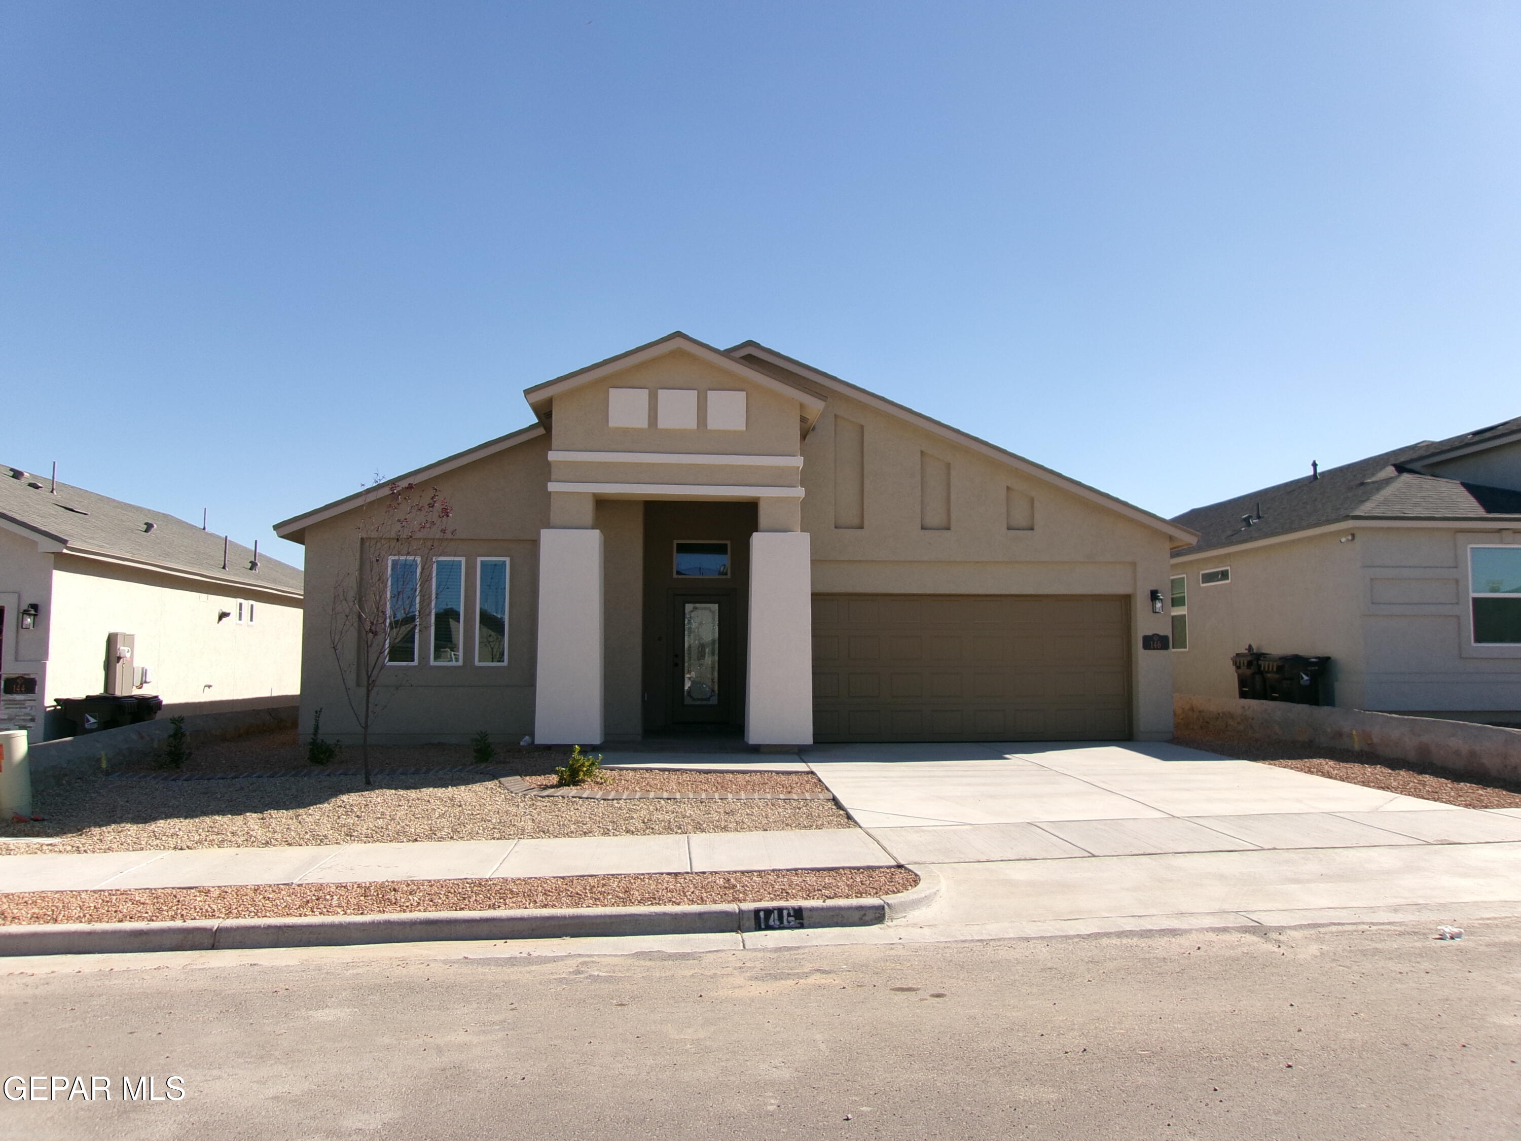
[[[1177,692],[1234,697],[1230,654],[1329,654],[1325,704],[1521,720],[1521,418],[1186,511]]]

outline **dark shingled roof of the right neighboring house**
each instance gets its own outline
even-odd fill
[[[1331,467],[1320,472],[1319,478],[1303,476],[1209,507],[1196,507],[1176,516],[1173,522],[1197,531],[1200,539],[1185,551],[1174,551],[1173,557],[1352,520],[1460,522],[1491,516],[1521,517],[1521,491],[1465,484],[1418,470],[1448,452],[1469,450],[1489,441],[1500,444],[1513,437],[1521,437],[1521,417],[1450,440],[1422,440],[1419,444]],[[1250,525],[1247,517],[1252,519]]]

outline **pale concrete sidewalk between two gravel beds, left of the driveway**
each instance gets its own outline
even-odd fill
[[[768,872],[884,867],[896,863],[868,834],[855,828],[324,847],[210,847],[190,852],[0,857],[0,892],[631,872]]]

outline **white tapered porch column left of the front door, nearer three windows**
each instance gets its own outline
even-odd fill
[[[602,741],[602,532],[538,532],[538,669],[534,741]]]

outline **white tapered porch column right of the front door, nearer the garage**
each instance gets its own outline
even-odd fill
[[[750,536],[745,741],[814,742],[812,548],[808,531]]]

